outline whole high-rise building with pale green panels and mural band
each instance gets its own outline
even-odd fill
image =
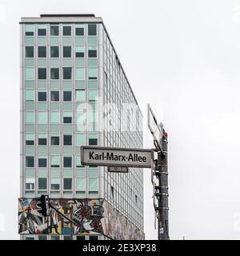
[[[102,18],[42,14],[20,27],[22,239],[144,238],[142,169],[81,165],[80,146],[142,148],[142,113]],[[81,225],[39,218],[42,194],[68,216],[72,203]]]

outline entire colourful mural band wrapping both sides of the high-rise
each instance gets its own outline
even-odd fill
[[[42,216],[38,198],[18,199],[19,234],[104,234],[117,240],[144,239],[142,230],[103,199],[49,199]],[[73,225],[71,225],[71,221]]]

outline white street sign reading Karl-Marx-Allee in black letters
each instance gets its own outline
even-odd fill
[[[153,150],[138,150],[102,146],[81,146],[83,166],[126,166],[151,168]]]

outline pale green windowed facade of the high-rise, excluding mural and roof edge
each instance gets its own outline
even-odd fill
[[[81,166],[83,145],[142,148],[142,114],[104,26],[23,22],[21,30],[21,197],[105,198],[143,230],[142,170]],[[118,111],[106,115],[109,103]],[[26,239],[40,237],[59,238]]]

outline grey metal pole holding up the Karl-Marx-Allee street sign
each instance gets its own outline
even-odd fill
[[[162,153],[158,152],[158,240],[169,240],[168,228],[168,171],[167,171],[167,134],[162,136]]]

